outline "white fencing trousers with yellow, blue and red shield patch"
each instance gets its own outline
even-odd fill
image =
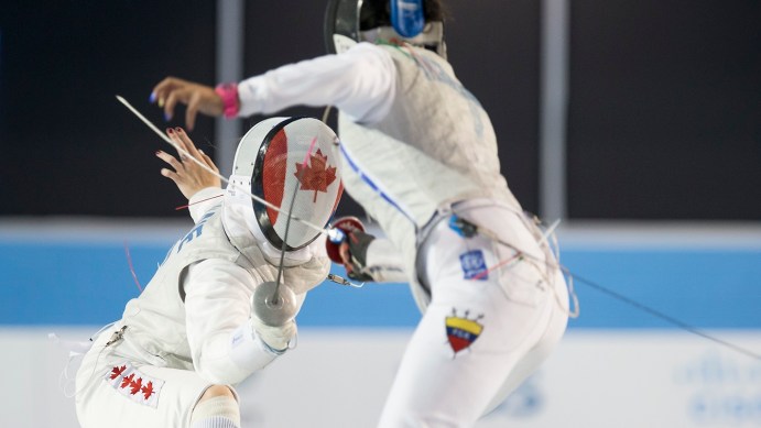
[[[459,204],[455,212],[523,257],[483,235],[460,237],[447,221],[434,227],[418,255],[425,257],[421,275],[432,301],[404,353],[380,427],[472,426],[539,367],[565,331],[564,276],[523,215],[483,200]]]

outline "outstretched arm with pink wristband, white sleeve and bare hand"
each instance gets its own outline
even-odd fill
[[[354,121],[371,123],[391,109],[395,73],[388,52],[359,43],[338,55],[284,65],[241,81],[232,92],[237,95],[232,116],[269,114],[300,105],[336,106]],[[164,109],[167,120],[177,102],[187,105],[185,122],[192,130],[198,112],[229,117],[221,94],[231,92],[167,77],[153,88],[151,100]]]

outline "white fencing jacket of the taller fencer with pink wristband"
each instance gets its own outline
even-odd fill
[[[420,232],[450,202],[486,197],[520,210],[500,174],[497,139],[452,66],[424,48],[359,43],[239,86],[241,116],[294,105],[338,107],[343,180],[401,254],[418,306]]]

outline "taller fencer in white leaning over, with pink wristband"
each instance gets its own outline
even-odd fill
[[[349,233],[344,263],[407,282],[423,311],[384,428],[472,426],[547,358],[569,310],[551,239],[510,191],[489,117],[446,61],[441,4],[422,6],[422,32],[403,36],[416,24],[398,28],[395,0],[331,1],[335,55],[216,90],[170,77],[153,92],[170,116],[188,103],[189,123],[198,110],[338,108],[344,185],[385,235]]]

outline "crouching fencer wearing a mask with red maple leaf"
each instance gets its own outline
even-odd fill
[[[121,319],[93,338],[76,376],[83,427],[240,427],[235,385],[289,350],[296,334],[295,312],[329,271],[323,234],[298,227],[283,234],[287,216],[267,212],[246,194],[278,205],[290,202],[293,195],[300,216],[327,223],[340,196],[339,177],[319,191],[297,190],[300,176],[294,172],[305,157],[304,147],[319,155],[336,136],[322,122],[308,119],[304,125],[304,120],[273,118],[254,125],[236,155],[230,182],[238,187],[228,185],[226,190],[214,180],[193,182],[188,175],[195,166],[186,156],[177,161],[159,153],[176,169],[162,173],[192,195],[195,226],[172,246],[142,294],[127,304]],[[292,132],[293,127],[298,129]],[[214,165],[182,129],[167,134]],[[320,165],[333,162],[319,160]],[[204,178],[203,171],[195,174]],[[257,191],[257,185],[263,185],[263,191]],[[293,306],[292,314],[273,323],[271,314],[261,317],[252,310],[252,300],[279,273],[282,289],[293,292],[283,294]]]

